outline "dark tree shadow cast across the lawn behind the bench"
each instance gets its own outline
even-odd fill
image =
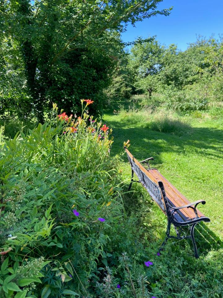
[[[115,143],[111,154],[120,152],[123,142],[127,139],[131,142],[131,153],[137,159],[154,157],[153,164],[161,164],[161,152],[184,153],[186,147],[191,147],[191,151],[207,157],[223,157],[223,131],[212,128],[191,128],[190,133],[177,136],[169,133],[161,133],[148,128],[128,128],[126,125],[110,121],[113,129]],[[127,161],[127,158],[124,159]]]

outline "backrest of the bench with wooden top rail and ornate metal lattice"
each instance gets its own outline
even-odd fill
[[[134,173],[138,177],[139,181],[146,188],[147,192],[153,198],[153,200],[160,206],[161,210],[166,214],[163,196],[161,189],[157,184],[155,178],[138,162],[137,159],[125,148],[125,152],[128,156],[129,163]]]

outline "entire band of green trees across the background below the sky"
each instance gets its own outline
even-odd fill
[[[180,111],[221,101],[222,38],[199,37],[184,52],[155,38],[123,43],[128,22],[170,11],[156,9],[161,0],[133,2],[1,2],[0,117],[42,122],[52,102],[74,114],[81,98],[103,115],[117,99],[145,93]]]

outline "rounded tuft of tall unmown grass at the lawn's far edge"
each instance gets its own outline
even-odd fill
[[[188,133],[191,129],[188,120],[174,118],[163,112],[154,114],[151,121],[147,124],[147,127],[162,133],[173,133],[177,135]]]

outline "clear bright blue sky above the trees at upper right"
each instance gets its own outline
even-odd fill
[[[136,23],[134,28],[128,25],[122,34],[122,40],[129,42],[141,36],[157,36],[161,44],[177,44],[182,51],[187,43],[196,40],[196,34],[209,37],[223,34],[223,0],[164,0],[161,8],[173,6],[170,16],[155,16]]]

